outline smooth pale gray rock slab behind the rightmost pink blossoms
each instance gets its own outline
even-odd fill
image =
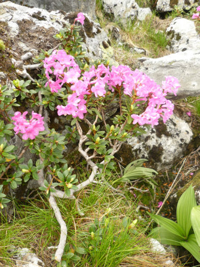
[[[176,98],[199,96],[199,68],[200,52],[186,50],[159,58],[141,57],[138,60],[139,70],[145,72],[158,84],[164,80],[164,76],[177,77],[181,87]],[[174,98],[174,95],[169,95]]]

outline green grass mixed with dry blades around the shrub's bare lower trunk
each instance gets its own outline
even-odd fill
[[[60,207],[62,217],[68,227],[67,241],[71,249],[83,247],[87,254],[79,255],[81,260],[69,261],[68,266],[117,266],[127,255],[132,256],[139,250],[145,250],[146,241],[142,232],[145,224],[139,221],[135,229],[129,231],[128,226],[123,226],[123,218],[130,218],[129,224],[138,217],[134,214],[135,204],[127,195],[127,199],[113,194],[106,186],[90,186],[79,194],[80,208],[84,216],[80,217],[75,201],[56,199]],[[102,218],[109,219],[107,228],[102,223]],[[99,228],[102,233],[98,244],[93,251],[89,250],[89,228],[94,221],[99,220]],[[141,238],[142,236],[142,238]],[[13,246],[16,248],[29,248],[36,253],[48,266],[56,266],[51,260],[54,250],[47,247],[58,245],[60,227],[53,216],[48,201],[45,197],[15,203],[15,217],[10,223],[4,223],[0,227],[0,262],[11,264],[9,259],[12,254],[8,251]],[[71,265],[70,265],[71,264]],[[46,265],[45,265],[46,266]]]

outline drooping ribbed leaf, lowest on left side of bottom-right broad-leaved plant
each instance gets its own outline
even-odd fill
[[[180,236],[168,231],[163,226],[154,228],[150,236],[165,245],[181,246],[180,242],[183,241]]]

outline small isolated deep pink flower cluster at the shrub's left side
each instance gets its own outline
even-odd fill
[[[33,140],[39,134],[39,131],[44,131],[44,117],[33,111],[31,120],[27,121],[25,118],[27,113],[27,111],[22,114],[19,111],[15,112],[12,117],[12,120],[15,121],[13,123],[15,125],[14,131],[16,134],[19,132],[22,133],[23,140],[27,140],[28,138]]]

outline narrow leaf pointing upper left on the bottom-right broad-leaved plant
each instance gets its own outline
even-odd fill
[[[180,236],[180,238],[182,238],[183,240],[186,239],[184,237],[184,231],[179,224],[162,216],[154,215],[149,212],[147,213],[152,217],[152,219],[154,219],[159,225],[163,226],[166,230]]]

